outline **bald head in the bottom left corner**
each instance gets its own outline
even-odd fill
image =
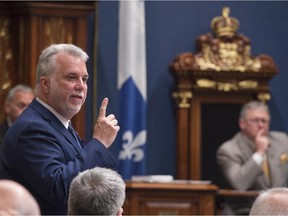
[[[0,215],[40,215],[29,191],[17,182],[0,180]]]

